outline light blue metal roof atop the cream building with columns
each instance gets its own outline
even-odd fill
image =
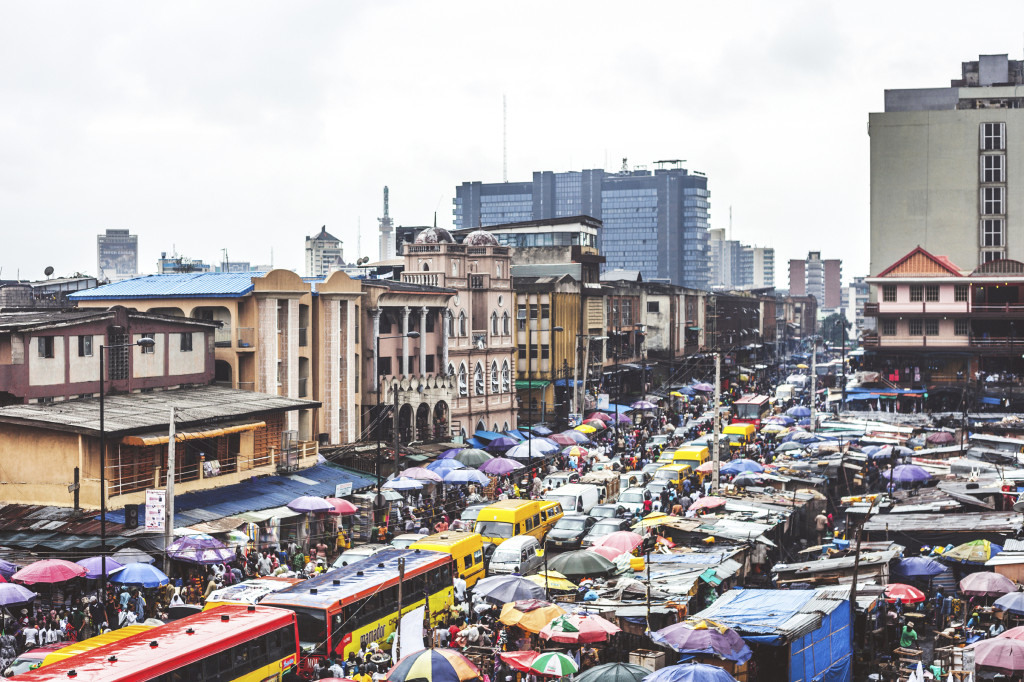
[[[253,290],[253,278],[266,272],[179,272],[148,274],[86,289],[69,295],[73,301],[132,298],[219,298],[243,296]]]

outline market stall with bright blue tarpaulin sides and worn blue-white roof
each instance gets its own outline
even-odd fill
[[[731,590],[695,615],[732,628],[749,644],[790,647],[788,682],[850,682],[849,593]]]

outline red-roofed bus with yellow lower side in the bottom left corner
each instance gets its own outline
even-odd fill
[[[43,666],[12,680],[269,682],[298,665],[295,613],[225,605]]]

